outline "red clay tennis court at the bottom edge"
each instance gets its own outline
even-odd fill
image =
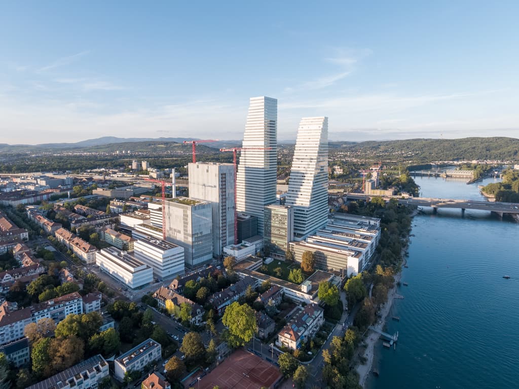
[[[222,364],[197,382],[188,380],[185,387],[195,389],[259,389],[262,386],[273,388],[281,380],[279,370],[266,360],[244,350],[237,350]],[[194,383],[193,383],[194,382]]]

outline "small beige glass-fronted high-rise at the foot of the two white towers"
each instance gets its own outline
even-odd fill
[[[294,240],[294,209],[286,205],[265,207],[264,247],[271,255],[284,257]]]

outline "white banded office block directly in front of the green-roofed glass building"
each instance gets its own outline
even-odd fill
[[[151,266],[159,279],[184,274],[184,248],[152,237],[138,239],[133,245],[135,258]]]

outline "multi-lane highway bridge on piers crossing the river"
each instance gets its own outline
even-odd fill
[[[362,193],[347,193],[348,199],[369,199],[373,196],[362,194]],[[466,209],[477,209],[480,211],[496,212],[499,216],[503,216],[503,213],[519,213],[519,204],[517,203],[500,203],[500,202],[487,202],[484,200],[459,200],[449,198],[429,198],[429,197],[402,197],[402,196],[384,196],[386,201],[394,198],[397,199],[400,204],[414,205],[417,207],[431,207],[434,212],[438,208],[458,208],[462,212]]]

